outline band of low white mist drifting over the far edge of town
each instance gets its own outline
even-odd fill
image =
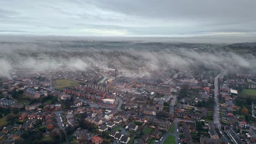
[[[138,46],[139,45],[139,46]],[[188,44],[186,44],[188,45]],[[193,44],[194,47],[195,44]],[[200,49],[172,44],[136,44],[102,41],[0,42],[0,77],[15,69],[86,71],[90,68],[133,70],[141,73],[175,70],[219,70],[256,73],[256,58],[247,53]],[[219,50],[219,49],[218,49]]]

